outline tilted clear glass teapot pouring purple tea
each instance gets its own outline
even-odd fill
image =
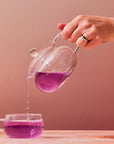
[[[30,50],[33,58],[27,73],[27,79],[35,77],[36,86],[43,92],[51,93],[59,89],[73,72],[77,63],[76,52],[62,45],[57,47],[55,38],[44,48],[37,51],[35,48]]]

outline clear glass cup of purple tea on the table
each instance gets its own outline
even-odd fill
[[[43,129],[41,114],[7,114],[4,119],[4,131],[10,138],[39,137]]]

